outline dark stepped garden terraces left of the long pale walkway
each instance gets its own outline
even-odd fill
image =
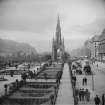
[[[9,84],[8,94],[4,96],[5,99],[0,98],[0,105],[54,105],[60,85],[57,80],[62,75],[61,71],[61,65],[51,66],[40,71],[36,79],[33,77],[19,81],[18,87],[16,82]]]

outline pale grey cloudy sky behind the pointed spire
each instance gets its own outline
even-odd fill
[[[105,0],[0,0],[0,38],[51,51],[58,15],[65,48],[71,51],[103,31]]]

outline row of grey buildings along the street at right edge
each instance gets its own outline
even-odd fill
[[[84,44],[90,50],[90,57],[99,61],[105,60],[105,29],[101,35],[95,35]]]

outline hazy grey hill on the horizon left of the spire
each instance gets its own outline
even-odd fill
[[[27,55],[33,53],[37,54],[35,48],[27,43],[18,43],[12,40],[0,39],[0,55],[12,55],[18,52],[26,53]]]

